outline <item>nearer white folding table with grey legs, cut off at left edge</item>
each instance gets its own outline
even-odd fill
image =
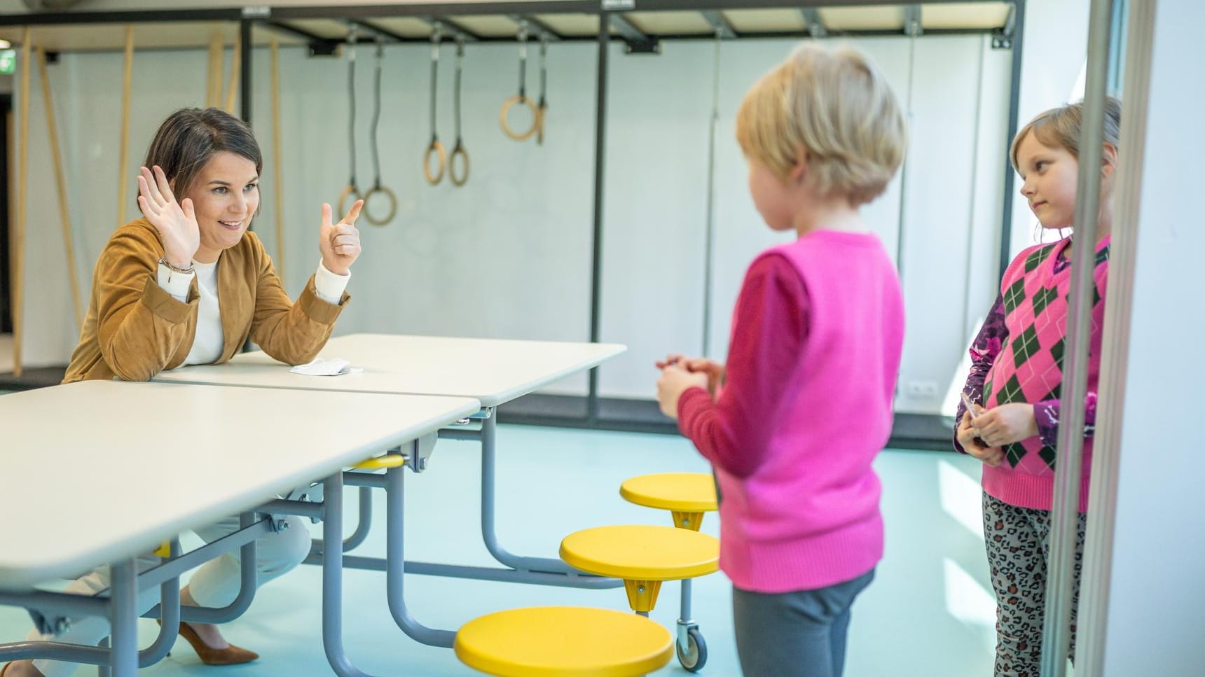
[[[136,555],[305,482],[341,479],[345,466],[480,407],[471,398],[114,381],[4,395],[0,602],[107,616],[112,649],[17,642],[0,644],[0,661],[63,658],[131,677]],[[108,597],[34,588],[104,563],[113,571]],[[166,605],[164,614],[167,625]]]

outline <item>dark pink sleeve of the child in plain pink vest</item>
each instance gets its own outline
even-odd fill
[[[807,292],[781,255],[750,266],[736,302],[727,379],[715,402],[701,388],[678,400],[678,429],[712,464],[737,477],[752,475],[769,451],[807,335]]]

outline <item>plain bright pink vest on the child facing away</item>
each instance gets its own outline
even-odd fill
[[[882,559],[881,485],[871,461],[892,429],[904,304],[874,235],[813,231],[762,255],[784,257],[803,281],[806,336],[789,363],[759,365],[789,375],[776,412],[746,422],[770,426],[766,448],[750,451],[764,460],[746,477],[716,465],[721,566],[746,590],[817,589],[857,578]],[[739,305],[735,316],[758,312]],[[734,323],[734,342],[740,331]],[[733,442],[740,448],[741,440]]]

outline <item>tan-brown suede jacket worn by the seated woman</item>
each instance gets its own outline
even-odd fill
[[[183,304],[158,283],[163,243],[146,219],[118,228],[96,261],[88,317],[71,353],[64,383],[93,378],[148,381],[183,364],[193,347],[199,304],[196,279]],[[288,364],[315,358],[330,337],[339,305],[315,294],[313,277],[294,304],[254,232],[246,232],[218,258],[218,305],[225,338],[221,364],[248,337]]]

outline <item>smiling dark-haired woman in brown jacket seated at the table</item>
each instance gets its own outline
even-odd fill
[[[330,205],[322,206],[317,234],[322,258],[293,302],[264,246],[247,231],[259,207],[261,166],[251,129],[219,108],[186,108],[164,120],[137,177],[143,218],[118,228],[96,261],[88,317],[64,383],[113,377],[147,381],[165,369],[224,363],[248,337],[289,364],[318,354],[348,300],[343,289],[348,269],[360,254],[354,224],[363,201],[334,224]],[[183,199],[177,201],[177,195]],[[221,422],[196,420],[198,425],[214,423]],[[187,428],[178,440],[163,440],[163,445],[165,453],[187,448]],[[204,453],[196,449],[189,458],[204,463]],[[286,529],[255,542],[260,584],[289,571],[310,552],[305,520],[288,517],[286,522]],[[196,534],[210,542],[237,529],[239,518],[231,517]],[[148,554],[139,559],[139,567],[158,563]],[[108,569],[101,567],[71,583],[67,591],[96,594],[108,588]],[[181,590],[181,600],[223,607],[234,601],[239,587],[235,551],[201,566]],[[158,597],[158,587],[142,591],[140,611],[154,606]],[[210,665],[258,658],[228,643],[216,625],[181,623],[180,634]],[[57,636],[34,630],[29,638],[94,646],[107,635],[105,619],[84,617],[71,619],[70,629]],[[58,660],[22,660],[7,665],[0,677],[60,677],[76,667]]]

